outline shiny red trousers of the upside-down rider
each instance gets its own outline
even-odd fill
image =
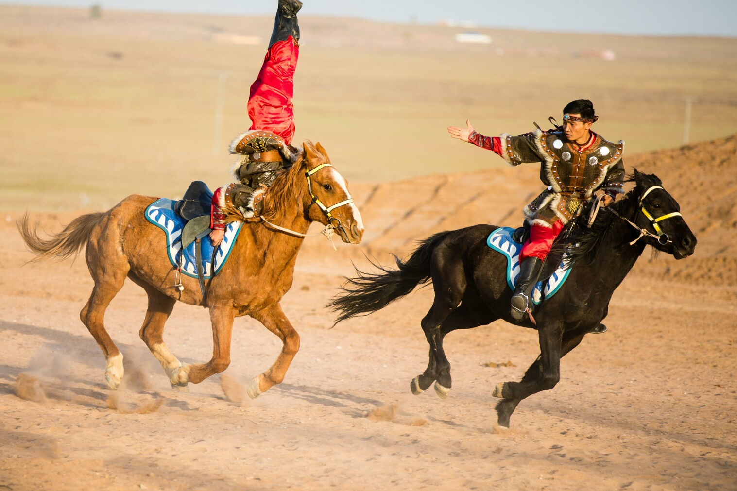
[[[248,97],[248,117],[253,123],[249,129],[272,131],[287,144],[294,138],[292,97],[298,57],[299,46],[292,36],[274,43],[266,52]]]

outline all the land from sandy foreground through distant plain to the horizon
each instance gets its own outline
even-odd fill
[[[298,137],[321,141],[349,175],[366,235],[338,252],[305,241],[282,302],[301,351],[284,383],[251,401],[245,383],[276,358],[278,338],[237,319],[231,366],[181,394],[138,337],[146,299],[130,283],[105,318],[126,367],[109,391],[79,320],[92,286],[83,258],[22,266],[31,255],[15,220],[31,209],[59,231],[129,192],[223,184],[222,149],[244,128],[241,92],[263,48],[214,38],[264,38],[270,19],[0,14],[0,490],[737,489],[737,136],[713,140],[737,128],[736,40],[489,29],[492,46],[449,48],[450,28],[306,15]],[[572,77],[584,61],[612,76]],[[643,254],[612,299],[609,332],[587,335],[558,386],[499,431],[492,389],[534,361],[536,332],[503,321],[453,332],[450,397],[414,397],[430,290],[332,330],[324,304],[352,261],[366,267],[363,254],[388,264],[436,231],[520,222],[537,167],[503,167],[450,142],[446,125],[471,117],[489,134],[521,133],[581,95],[604,115],[601,133],[628,142],[627,167],[663,178],[699,244],[682,261]],[[691,140],[708,142],[676,147],[684,97],[699,100]],[[671,150],[645,153],[657,148]],[[475,169],[486,170],[461,173]],[[209,359],[206,310],[178,305],[165,337],[182,361]]]

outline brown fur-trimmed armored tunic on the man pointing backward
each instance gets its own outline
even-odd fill
[[[562,130],[500,136],[498,150],[509,164],[541,162],[540,181],[548,189],[525,206],[528,223],[550,227],[561,220],[565,224],[596,190],[610,195],[623,192],[624,142],[614,144],[591,134],[592,139],[581,148],[568,143]]]

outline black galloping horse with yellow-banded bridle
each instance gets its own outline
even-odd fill
[[[566,248],[571,271],[562,288],[535,308],[537,325],[527,316],[521,321],[510,316],[507,260],[486,245],[486,238],[497,229],[489,225],[435,234],[422,241],[407,261],[395,257],[398,269],[375,265],[381,273],[357,270],[358,276],[348,279],[343,293],[328,304],[340,312],[336,324],[375,312],[432,280],[435,300],[422,319],[430,363],[412,380],[411,389],[419,394],[435,381],[435,391],[443,398],[451,386],[450,363],[443,350],[448,332],[483,326],[499,318],[537,329],[537,360],[520,382],[499,383],[494,389],[493,395],[502,399],[496,407],[498,423],[509,428],[509,418],[521,400],[558,383],[560,358],[607,316],[612,293],[646,245],[679,260],[694,253],[696,237],[660,179],[635,170],[629,181],[635,182],[634,189],[601,209],[590,227],[583,217],[577,219],[565,243],[557,246]]]

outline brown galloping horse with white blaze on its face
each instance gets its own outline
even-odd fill
[[[343,242],[357,244],[363,237],[363,223],[347,182],[329,164],[324,148],[304,142],[296,164],[276,178],[264,198],[262,216],[268,222],[243,224],[230,259],[209,282],[206,302],[198,279],[184,276],[184,290],[175,286],[176,270],[167,258],[167,239],[144,216],[153,201],[156,198],[131,195],[108,212],[77,217],[49,240],[38,237],[27,216],[18,223],[36,260],[69,257],[87,245],[85,257],[94,289],[80,317],[105,355],[108,386],[117,389],[122,380],[123,355],[102,319],[126,276],[148,294],[148,310],[139,335],[161,362],[172,387],[187,391],[187,383],[200,383],[228,368],[233,320],[246,315],[264,324],[284,344],[270,369],[248,384],[248,395],[258,397],[281,383],[299,349],[299,335],[279,301],[292,286],[304,233],[312,221],[318,221],[326,229],[328,224],[335,226]],[[209,362],[182,366],[164,344],[164,322],[177,301],[209,308],[213,337]]]

